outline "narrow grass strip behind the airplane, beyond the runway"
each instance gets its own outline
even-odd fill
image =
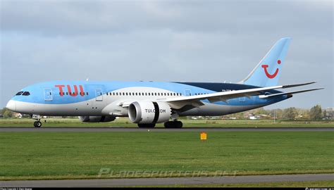
[[[45,122],[47,120],[47,122]],[[137,127],[128,118],[119,118],[113,122],[80,122],[79,119],[44,119],[43,127]],[[273,120],[186,120],[181,119],[184,127],[334,127],[334,121],[276,121]],[[34,120],[0,119],[0,127],[33,127]],[[156,127],[163,127],[157,124]]]

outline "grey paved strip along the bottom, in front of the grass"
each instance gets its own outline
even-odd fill
[[[170,177],[134,179],[75,179],[0,181],[1,187],[108,187],[162,186],[175,184],[245,184],[261,182],[311,182],[333,180],[334,174],[316,175],[253,175],[236,177]]]

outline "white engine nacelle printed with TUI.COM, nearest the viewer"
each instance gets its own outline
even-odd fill
[[[171,106],[159,101],[135,101],[129,106],[129,118],[135,123],[166,122],[171,118]]]

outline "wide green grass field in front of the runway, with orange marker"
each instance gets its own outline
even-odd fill
[[[1,132],[0,179],[98,178],[101,168],[113,171],[103,178],[123,177],[124,171],[333,173],[333,137],[334,132],[209,132],[200,141],[198,132]],[[140,174],[135,177],[163,177]]]

